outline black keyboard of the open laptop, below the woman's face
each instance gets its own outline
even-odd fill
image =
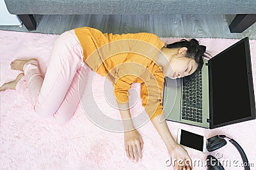
[[[183,78],[181,118],[202,123],[202,71]]]

